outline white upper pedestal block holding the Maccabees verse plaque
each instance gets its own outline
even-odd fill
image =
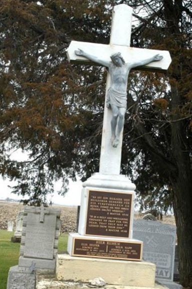
[[[125,175],[94,173],[83,183],[78,233],[131,238],[134,189]]]

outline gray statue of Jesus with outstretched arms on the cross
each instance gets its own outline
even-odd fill
[[[81,49],[74,51],[76,55],[84,56],[87,59],[94,61],[107,67],[111,78],[111,85],[107,91],[106,105],[112,110],[111,119],[111,144],[113,147],[117,147],[119,142],[120,132],[124,125],[124,114],[126,111],[127,102],[127,79],[128,73],[131,68],[136,66],[142,66],[148,64],[152,61],[158,61],[163,58],[163,56],[156,54],[150,58],[129,61],[125,63],[120,52],[114,53],[110,56],[111,61],[106,61],[99,59],[94,55],[84,52]]]

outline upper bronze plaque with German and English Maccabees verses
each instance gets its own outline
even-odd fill
[[[128,238],[131,200],[132,193],[89,190],[85,234]]]

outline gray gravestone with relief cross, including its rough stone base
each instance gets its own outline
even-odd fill
[[[35,269],[54,272],[59,228],[59,209],[24,207],[20,257],[9,269],[7,289],[34,289]]]

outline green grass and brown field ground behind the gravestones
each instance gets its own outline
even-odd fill
[[[16,215],[22,210],[23,205],[20,203],[11,203],[0,201],[0,289],[6,289],[6,282],[9,267],[18,264],[20,243],[10,241],[14,231],[7,231],[7,221],[15,221]],[[62,234],[58,240],[58,253],[66,251],[67,247],[67,232],[75,231],[76,226],[76,207],[61,208],[61,231]],[[135,215],[135,217],[140,217]],[[163,222],[175,224],[173,216],[163,217]]]

